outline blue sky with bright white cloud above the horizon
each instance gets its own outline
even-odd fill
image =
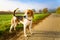
[[[26,9],[54,9],[60,6],[60,0],[0,0],[0,11],[13,11],[16,8]]]

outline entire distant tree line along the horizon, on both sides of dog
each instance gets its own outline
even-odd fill
[[[35,13],[36,13],[36,10],[35,9],[32,9]],[[0,11],[0,14],[12,14],[13,12],[11,11]],[[17,13],[23,13],[23,12],[20,12],[20,10],[18,10]],[[58,13],[60,14],[60,7],[57,7],[56,9],[48,9],[48,8],[43,8],[42,10],[39,10],[38,13]]]

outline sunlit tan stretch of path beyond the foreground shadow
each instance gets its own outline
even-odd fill
[[[60,32],[60,14],[51,14],[43,22],[36,25],[34,30]]]

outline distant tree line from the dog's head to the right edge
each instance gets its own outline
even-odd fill
[[[34,12],[36,12],[35,9],[32,9]],[[58,13],[60,14],[60,7],[57,7],[55,9],[48,9],[48,8],[43,8],[42,10],[39,10],[39,13]]]

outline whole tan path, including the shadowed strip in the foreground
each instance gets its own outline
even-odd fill
[[[28,35],[14,40],[60,40],[60,15],[51,14],[33,28],[32,35]]]

